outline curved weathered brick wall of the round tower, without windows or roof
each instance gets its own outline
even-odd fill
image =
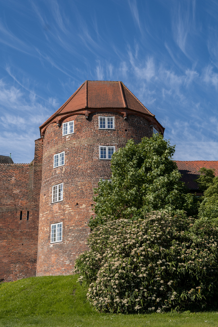
[[[99,130],[98,116],[114,116],[115,130]],[[84,114],[62,117],[62,123],[71,120],[75,122],[74,134],[62,136],[62,125],[58,127],[55,119],[45,130],[37,276],[71,274],[75,258],[88,249],[86,238],[93,214],[93,187],[100,178],[110,178],[110,161],[99,160],[99,145],[118,149],[130,138],[138,143],[153,133],[145,118],[128,115],[124,120],[118,110],[98,110],[88,119]],[[62,151],[65,151],[65,165],[53,168],[54,154]],[[59,183],[63,183],[63,201],[52,203],[52,185]],[[58,222],[63,223],[62,242],[50,244],[51,224]]]

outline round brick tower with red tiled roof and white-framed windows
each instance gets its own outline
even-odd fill
[[[85,81],[40,127],[43,139],[37,276],[72,274],[88,250],[93,187],[129,139],[164,128],[119,81]]]

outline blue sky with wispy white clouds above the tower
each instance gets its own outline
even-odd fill
[[[121,80],[175,160],[218,160],[218,2],[0,0],[0,154],[34,157],[41,125],[86,80]]]

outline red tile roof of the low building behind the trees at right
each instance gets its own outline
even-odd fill
[[[198,184],[195,179],[200,175],[198,170],[202,167],[215,169],[215,176],[218,176],[218,161],[175,161],[179,172],[182,174],[182,181],[190,190],[198,190]]]

